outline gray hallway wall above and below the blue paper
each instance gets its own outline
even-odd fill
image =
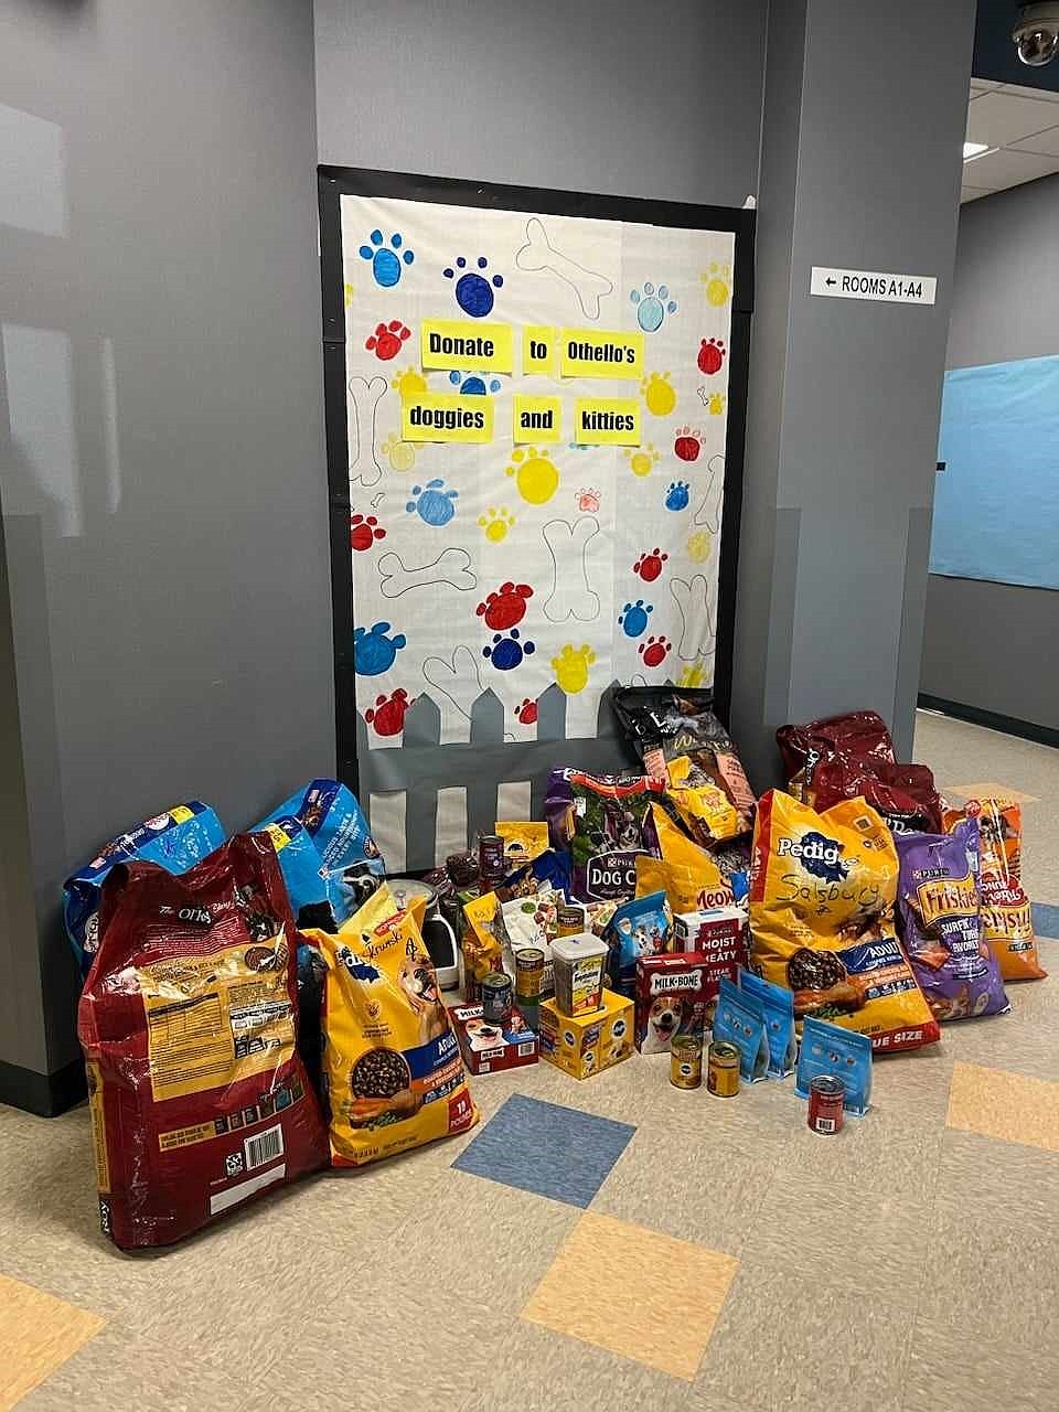
[[[960,208],[946,366],[1058,353],[1059,176],[1043,176]],[[921,690],[1059,729],[1056,641],[1055,590],[931,575]]]

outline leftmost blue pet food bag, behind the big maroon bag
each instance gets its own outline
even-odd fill
[[[186,873],[225,842],[220,819],[208,803],[188,799],[154,815],[103,844],[96,857],[62,884],[62,915],[82,980],[99,949],[99,895],[116,863],[157,863],[167,873]]]

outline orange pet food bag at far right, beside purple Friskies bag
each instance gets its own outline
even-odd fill
[[[981,840],[981,935],[1000,964],[1000,979],[1045,980],[1034,915],[1022,887],[1022,810],[1012,799],[969,799],[945,815],[945,827],[979,820]]]

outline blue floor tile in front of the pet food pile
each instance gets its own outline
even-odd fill
[[[452,1165],[585,1207],[634,1132],[627,1123],[513,1094]]]

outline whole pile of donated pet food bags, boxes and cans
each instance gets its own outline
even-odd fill
[[[946,808],[878,716],[784,727],[788,792],[758,801],[707,692],[616,710],[642,772],[556,768],[545,819],[422,878],[387,878],[357,801],[315,779],[227,842],[179,805],[68,880],[106,1234],[169,1244],[465,1132],[467,1075],[539,1059],[583,1080],[665,1053],[696,1089],[706,1051],[712,1094],[794,1073],[836,1132],[873,1052],[1043,977],[1018,806]]]

